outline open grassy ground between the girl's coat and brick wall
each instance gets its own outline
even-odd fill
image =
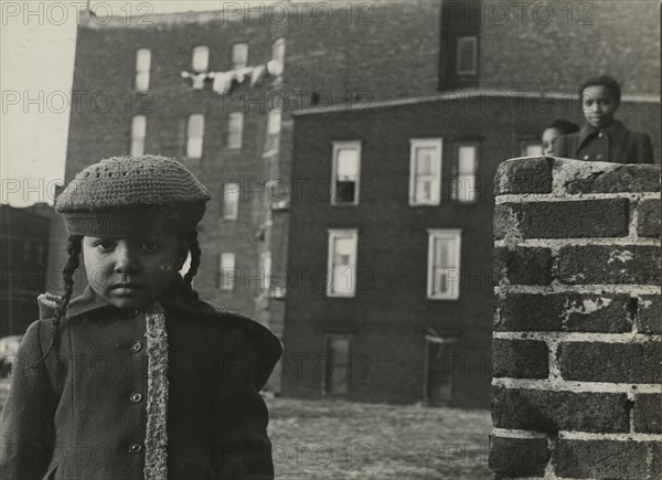
[[[487,410],[267,401],[277,479],[491,479]]]

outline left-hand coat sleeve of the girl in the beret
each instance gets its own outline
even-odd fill
[[[57,402],[45,361],[40,361],[42,323],[32,323],[21,341],[2,409],[0,478],[7,480],[41,479],[53,455]]]

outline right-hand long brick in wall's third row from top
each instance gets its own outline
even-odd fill
[[[660,247],[648,245],[565,246],[558,253],[564,284],[660,284]]]

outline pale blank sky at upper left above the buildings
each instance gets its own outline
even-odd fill
[[[205,11],[221,1],[93,1],[97,13],[125,17]],[[53,203],[62,183],[78,12],[85,0],[0,1],[0,203]]]

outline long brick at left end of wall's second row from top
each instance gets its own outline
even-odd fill
[[[494,237],[586,238],[628,235],[627,199],[504,203],[494,209]]]

